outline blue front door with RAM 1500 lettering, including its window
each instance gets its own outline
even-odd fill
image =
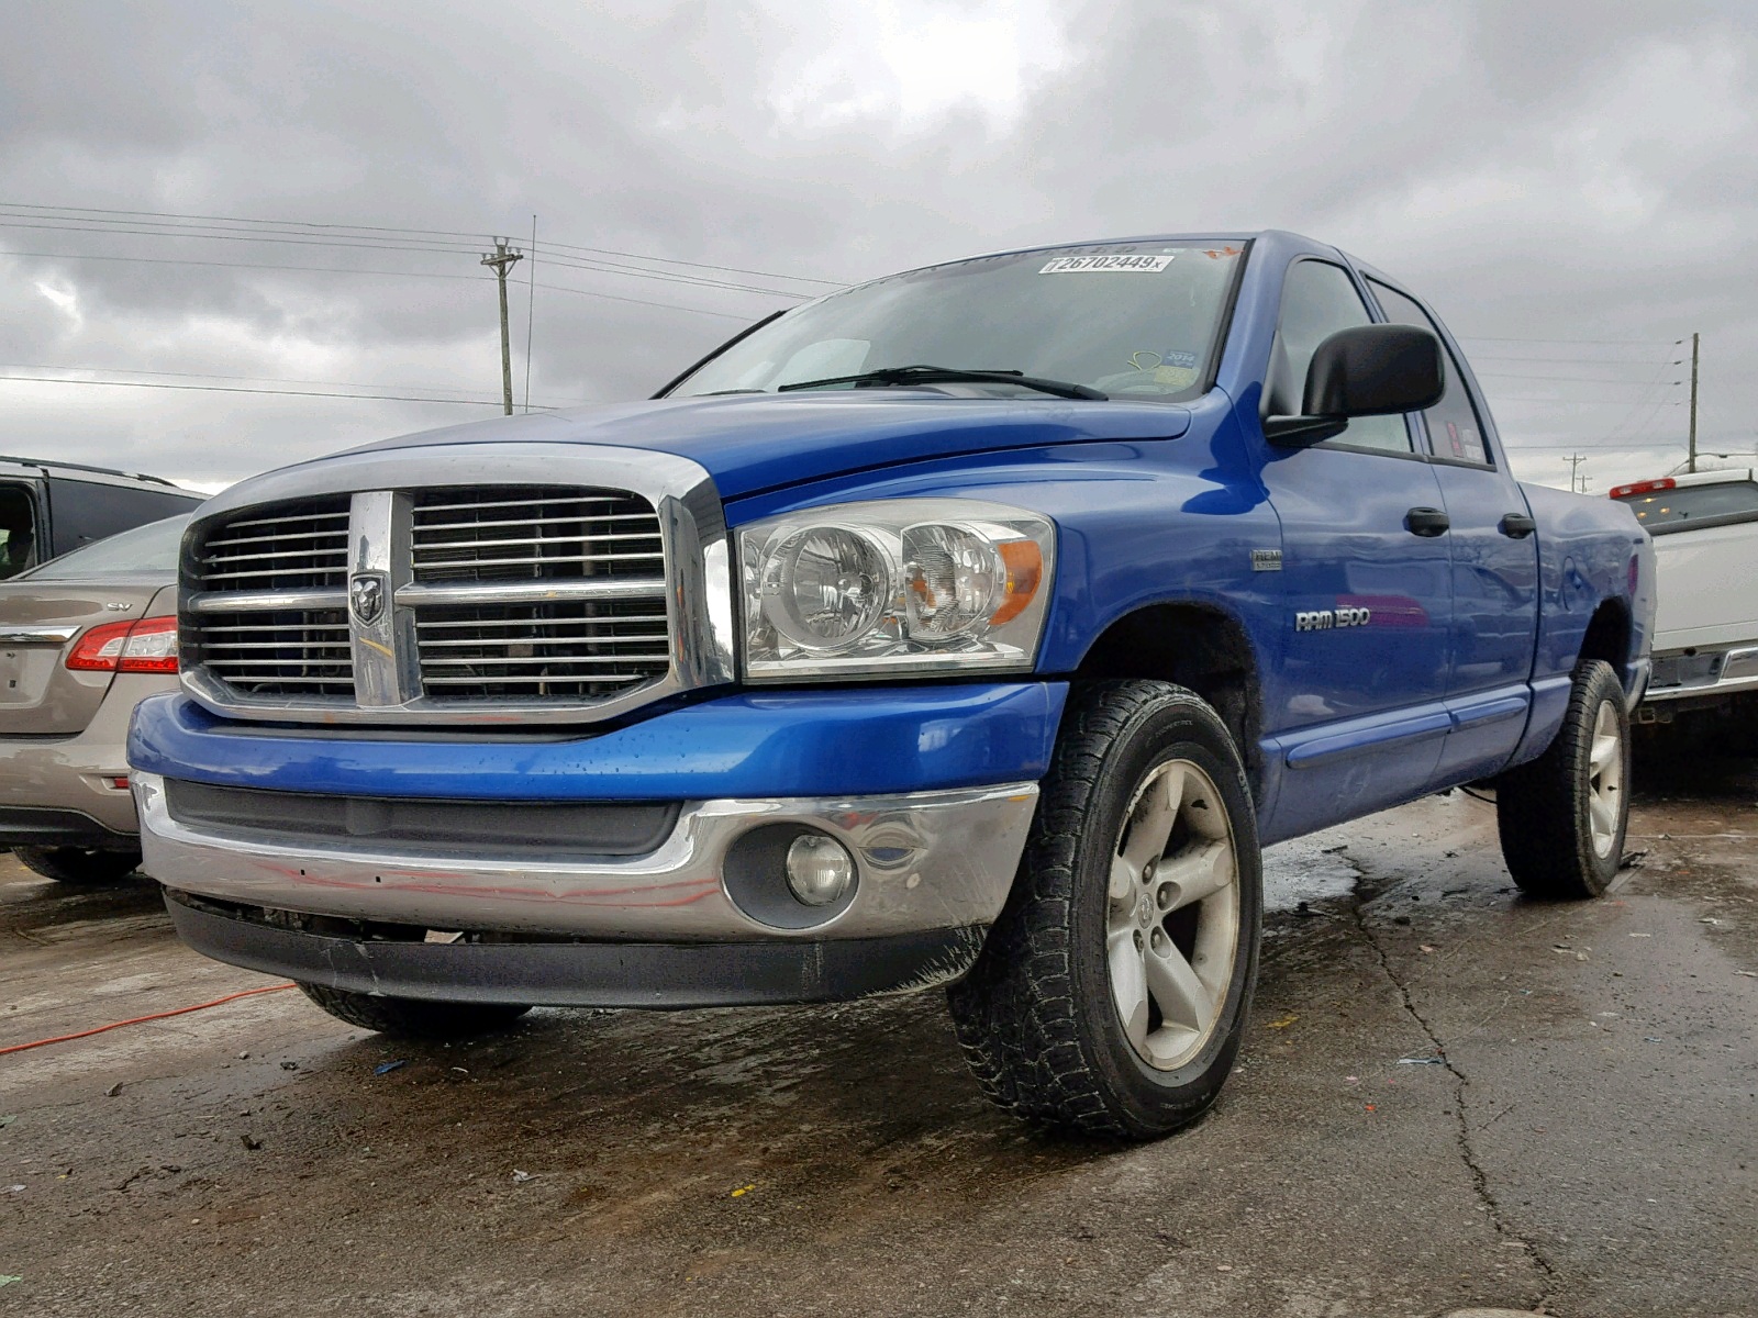
[[[1296,260],[1266,376],[1266,415],[1297,415],[1331,334],[1369,323],[1340,264]],[[1308,448],[1268,448],[1282,518],[1283,663],[1268,699],[1283,775],[1273,833],[1396,805],[1431,782],[1449,728],[1452,582],[1442,489],[1405,416],[1361,416]]]

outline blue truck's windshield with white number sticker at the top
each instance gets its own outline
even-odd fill
[[[684,378],[668,397],[774,392],[868,371],[1018,371],[1109,397],[1202,392],[1245,244],[1106,243],[895,274],[809,302]],[[872,385],[898,381],[872,381]],[[826,388],[861,388],[840,381]],[[1002,381],[958,394],[1037,395]]]

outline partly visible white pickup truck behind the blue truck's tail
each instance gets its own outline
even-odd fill
[[[1654,536],[1654,673],[1638,721],[1758,703],[1744,694],[1758,692],[1758,473],[1700,471],[1610,496]]]

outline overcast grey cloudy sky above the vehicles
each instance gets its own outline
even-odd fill
[[[214,485],[492,415],[478,260],[533,214],[538,406],[649,394],[814,281],[1282,227],[1436,304],[1528,480],[1681,462],[1693,330],[1702,446],[1758,448],[1744,4],[5,12],[0,452]]]

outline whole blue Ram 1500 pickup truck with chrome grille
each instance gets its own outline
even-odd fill
[[[1653,555],[1283,232],[1007,251],[654,399],[244,482],[139,706],[181,937],[429,1037],[944,986],[984,1091],[1148,1139],[1245,1028],[1259,849],[1457,784],[1605,891]]]

